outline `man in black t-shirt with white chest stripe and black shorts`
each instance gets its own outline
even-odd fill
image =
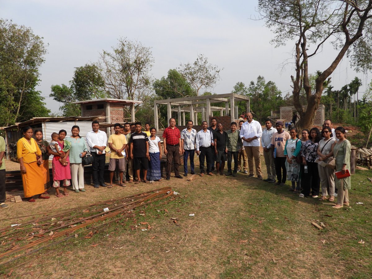
[[[143,169],[143,182],[148,183],[147,169],[148,160],[150,158],[148,154],[148,137],[142,132],[141,122],[136,122],[136,132],[131,135],[130,145],[131,145],[131,159],[134,159],[134,170],[136,171],[136,176],[138,180],[134,184],[140,183],[140,169]]]

